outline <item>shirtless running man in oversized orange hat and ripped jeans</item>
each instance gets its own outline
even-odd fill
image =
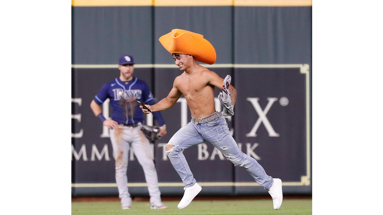
[[[187,207],[202,189],[195,181],[183,151],[208,141],[235,166],[246,169],[258,184],[268,190],[274,209],[279,209],[283,198],[282,181],[268,176],[254,158],[239,150],[223,117],[234,114],[233,108],[237,99],[236,90],[230,85],[230,76],[222,79],[196,62],[213,64],[216,59],[214,47],[202,35],[181,29],[174,29],[159,40],[173,55],[176,65],[183,73],[174,80],[168,97],[156,105],[148,105],[147,108],[152,112],[171,108],[184,95],[192,113],[192,120],[177,131],[165,147],[173,167],[185,185],[184,197],[178,208]],[[222,90],[218,97],[223,106],[222,112],[215,111],[215,87]],[[143,112],[149,113],[143,106],[140,107]]]

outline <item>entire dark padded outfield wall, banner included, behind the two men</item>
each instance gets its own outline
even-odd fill
[[[134,76],[157,102],[166,97],[181,71],[158,38],[175,28],[204,35],[217,53],[208,68],[231,75],[238,98],[226,121],[241,150],[281,178],[285,193],[311,194],[311,17],[311,6],[72,6],[72,196],[118,195],[110,139],[90,102],[119,76],[122,54],[134,56]],[[172,134],[191,120],[184,101],[162,112],[168,133],[153,143],[162,195],[184,193],[164,154]],[[267,194],[207,142],[184,154],[201,195]],[[135,157],[128,182],[131,195],[148,195]]]

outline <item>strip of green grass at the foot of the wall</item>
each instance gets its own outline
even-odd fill
[[[279,210],[272,200],[194,200],[185,209],[178,201],[164,201],[165,210],[151,210],[149,202],[133,202],[130,210],[121,210],[119,202],[72,202],[72,215],[312,215],[312,200],[283,200]]]

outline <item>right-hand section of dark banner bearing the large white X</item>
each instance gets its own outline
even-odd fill
[[[308,186],[308,68],[276,66],[235,68],[239,92],[235,138],[243,152],[255,158],[268,175],[282,179],[284,186]],[[235,183],[236,194],[258,189],[258,184],[242,168],[235,169]]]

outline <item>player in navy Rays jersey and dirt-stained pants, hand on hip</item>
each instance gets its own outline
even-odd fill
[[[132,148],[138,162],[144,169],[151,209],[166,209],[168,207],[162,203],[158,188],[152,148],[149,140],[140,129],[144,116],[137,103],[140,101],[153,105],[155,104],[153,95],[144,81],[133,77],[134,60],[131,55],[120,57],[118,69],[120,70],[120,77],[106,83],[92,100],[90,107],[101,122],[109,127],[110,140],[116,160],[116,182],[121,207],[122,209],[130,209],[132,204],[126,175],[129,149]],[[113,108],[111,119],[106,119],[103,116],[100,107],[108,98]],[[161,133],[164,135],[166,125],[161,113],[155,112],[153,116],[161,125]]]

